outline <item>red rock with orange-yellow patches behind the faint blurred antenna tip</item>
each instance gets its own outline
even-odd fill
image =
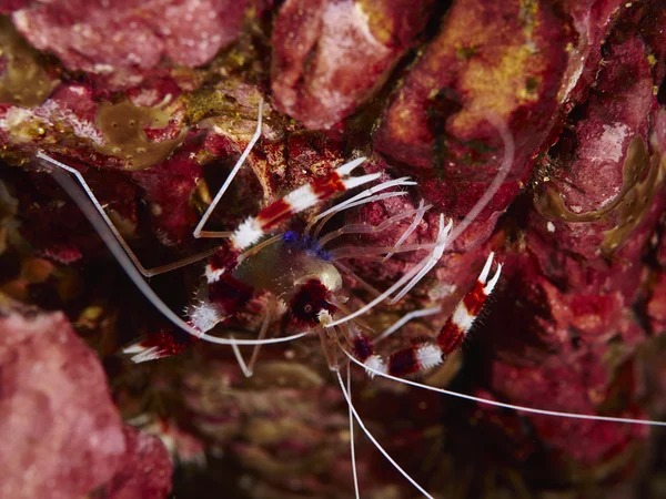
[[[457,251],[487,240],[498,212],[526,183],[551,131],[567,33],[547,2],[454,2],[386,108],[375,147],[415,174],[425,200],[454,220],[486,191],[503,159],[488,113],[508,126],[516,151],[511,173]]]

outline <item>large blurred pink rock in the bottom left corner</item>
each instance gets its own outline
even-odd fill
[[[81,497],[122,462],[125,439],[95,354],[62,314],[0,318],[0,490]]]

